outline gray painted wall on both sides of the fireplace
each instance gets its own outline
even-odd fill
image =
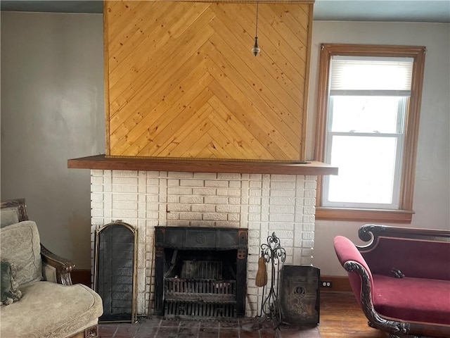
[[[315,21],[307,155],[321,43],[427,46],[413,223],[450,228],[450,25]],[[1,198],[26,197],[42,242],[90,267],[89,170],[68,158],[104,153],[102,16],[1,13]],[[361,223],[316,222],[314,265],[345,275],[333,237],[356,241]],[[356,241],[357,242],[357,241]]]

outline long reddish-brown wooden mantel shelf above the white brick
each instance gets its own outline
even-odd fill
[[[338,175],[338,168],[318,161],[198,160],[183,158],[131,158],[105,155],[72,158],[68,168],[99,170],[183,171],[194,173],[248,173],[278,175]]]

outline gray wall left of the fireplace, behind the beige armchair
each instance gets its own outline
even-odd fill
[[[90,268],[90,172],[103,154],[103,16],[1,13],[1,199],[25,197],[41,242]]]

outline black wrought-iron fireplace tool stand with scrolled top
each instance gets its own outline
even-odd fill
[[[286,251],[281,247],[280,239],[276,237],[275,232],[272,232],[267,237],[267,244],[261,245],[261,256],[264,257],[265,263],[269,263],[271,279],[267,288],[266,285],[262,287],[261,308],[256,316],[260,320],[253,327],[259,328],[262,323],[271,320],[274,325],[274,330],[276,330],[283,323],[281,305],[278,301],[278,280],[281,268],[286,259]]]

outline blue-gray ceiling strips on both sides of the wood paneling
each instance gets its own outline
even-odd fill
[[[102,13],[101,0],[1,0],[1,11]],[[450,0],[316,0],[314,20],[450,23]]]

